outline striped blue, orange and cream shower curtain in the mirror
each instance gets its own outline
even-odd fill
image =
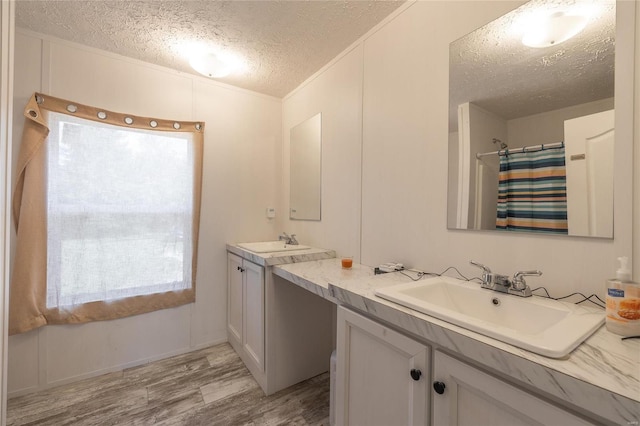
[[[500,157],[496,229],[567,234],[564,146]]]

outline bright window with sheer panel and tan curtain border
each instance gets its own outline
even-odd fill
[[[9,334],[195,301],[204,124],[40,94],[24,115]]]

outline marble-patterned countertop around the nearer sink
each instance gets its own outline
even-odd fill
[[[345,270],[339,259],[328,259],[279,265],[274,273],[603,420],[640,420],[638,339],[622,341],[603,326],[567,357],[552,359],[377,297],[377,288],[411,280],[398,272],[374,275],[373,268],[358,264]]]

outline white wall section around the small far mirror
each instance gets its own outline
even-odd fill
[[[362,46],[348,50],[317,79],[287,97],[283,105],[281,231],[301,244],[360,256],[360,175],[362,140]],[[321,221],[289,220],[290,130],[322,113]]]

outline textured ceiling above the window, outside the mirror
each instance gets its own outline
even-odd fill
[[[193,74],[185,46],[204,44],[244,58],[217,80],[282,97],[402,2],[19,0],[16,25]]]

